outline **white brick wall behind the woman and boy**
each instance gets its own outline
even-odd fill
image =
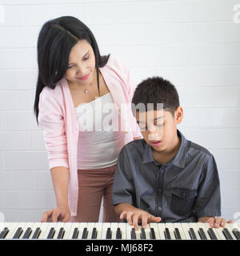
[[[222,215],[240,212],[240,0],[2,0],[0,17],[0,212],[37,222],[55,206],[33,104],[44,22],[72,15],[102,54],[126,63],[135,84],[161,75],[178,88],[186,138],[215,156]],[[240,15],[239,15],[240,16]]]

